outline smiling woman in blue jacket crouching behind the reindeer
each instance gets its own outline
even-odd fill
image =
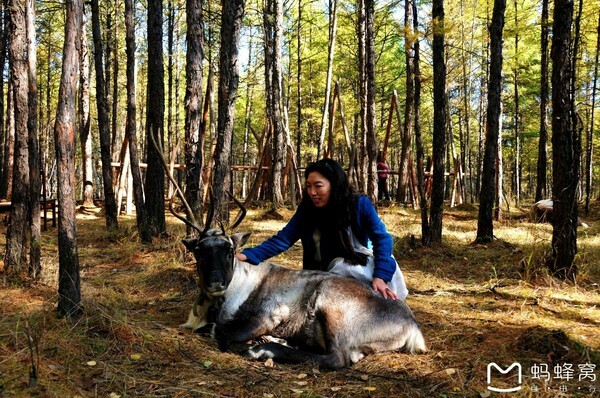
[[[407,291],[392,257],[392,237],[369,198],[356,193],[340,164],[332,159],[310,164],[304,176],[302,201],[287,225],[237,257],[258,264],[284,252],[300,239],[304,269],[336,272],[341,268],[338,273],[346,274],[344,268],[364,266],[371,261],[374,267],[368,279],[373,290],[384,298],[404,299]],[[372,252],[366,249],[369,242],[373,243]],[[400,288],[390,289],[388,282],[398,278]]]

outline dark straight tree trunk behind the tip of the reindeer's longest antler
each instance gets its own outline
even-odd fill
[[[161,0],[148,1],[148,98],[146,101],[146,142],[150,134],[161,147],[164,143],[165,86],[163,66],[163,7]],[[166,233],[165,177],[160,155],[152,145],[146,146],[146,204],[148,223],[154,236]]]

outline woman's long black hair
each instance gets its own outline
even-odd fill
[[[303,190],[302,204],[311,209],[311,213],[315,217],[326,216],[327,222],[332,222],[337,229],[345,230],[352,225],[352,220],[356,216],[356,198],[358,193],[348,181],[348,176],[344,172],[342,166],[333,159],[321,159],[311,163],[304,171],[304,177],[308,179],[310,173],[318,172],[325,177],[331,184],[331,193],[329,194],[329,202],[325,206],[325,212],[317,215],[313,213],[316,210],[314,204],[306,191]],[[318,220],[317,220],[318,221]],[[325,220],[322,220],[325,221]]]

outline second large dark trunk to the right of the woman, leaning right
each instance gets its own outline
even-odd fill
[[[477,219],[477,239],[479,243],[494,239],[492,210],[496,192],[496,157],[498,156],[498,135],[500,132],[501,92],[502,92],[502,30],[506,0],[495,0],[492,23],[490,25],[490,79],[488,82],[488,106],[485,136],[485,154],[479,194],[479,217]]]

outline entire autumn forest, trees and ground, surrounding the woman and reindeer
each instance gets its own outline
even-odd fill
[[[492,363],[516,396],[600,391],[597,1],[0,10],[0,396],[487,397]],[[260,244],[321,158],[376,206],[429,350],[325,371],[179,328],[190,224],[239,201]]]

